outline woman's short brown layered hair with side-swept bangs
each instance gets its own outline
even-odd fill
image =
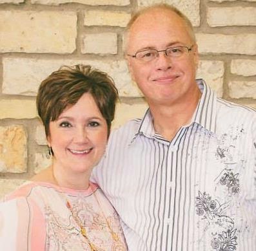
[[[41,82],[37,93],[37,112],[40,116],[46,137],[50,135],[49,124],[57,120],[63,110],[74,105],[84,93],[90,93],[108,125],[115,114],[118,91],[113,79],[92,66],[77,64],[63,66]]]

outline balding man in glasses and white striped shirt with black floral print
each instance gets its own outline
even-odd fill
[[[149,109],[110,136],[97,169],[129,250],[256,250],[256,113],[195,80],[192,24],[169,5],[135,14],[126,59]]]

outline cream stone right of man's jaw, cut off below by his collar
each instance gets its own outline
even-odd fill
[[[218,97],[222,97],[224,63],[222,61],[199,61],[197,79],[204,79]]]

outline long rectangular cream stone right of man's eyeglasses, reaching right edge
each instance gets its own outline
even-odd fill
[[[256,55],[256,34],[254,33],[234,35],[197,33],[196,38],[200,53]]]

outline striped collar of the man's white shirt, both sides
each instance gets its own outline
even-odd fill
[[[207,129],[208,131],[215,133],[217,97],[214,91],[208,86],[208,84],[206,84],[206,82],[204,82],[204,80],[197,79],[196,81],[200,91],[202,92],[202,96],[192,116],[190,125],[193,123],[197,123],[205,129]],[[153,128],[153,118],[149,108],[144,114],[139,129],[135,133],[133,140],[135,140],[135,138],[141,134],[148,138],[161,138],[161,135],[155,133],[155,129]]]

